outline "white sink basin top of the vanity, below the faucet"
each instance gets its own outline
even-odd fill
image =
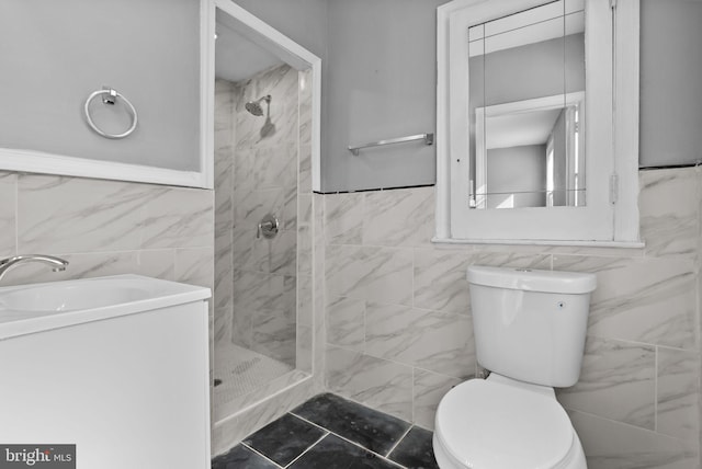
[[[140,275],[0,288],[0,340],[210,298],[210,289]]]

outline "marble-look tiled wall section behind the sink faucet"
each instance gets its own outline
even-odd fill
[[[143,274],[213,286],[213,193],[131,182],[0,172],[0,258],[46,253],[3,286]]]

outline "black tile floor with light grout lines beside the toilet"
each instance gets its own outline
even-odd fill
[[[212,460],[212,469],[438,469],[431,432],[319,394]]]

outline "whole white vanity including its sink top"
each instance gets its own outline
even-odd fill
[[[208,468],[210,296],[138,275],[0,288],[0,443]]]

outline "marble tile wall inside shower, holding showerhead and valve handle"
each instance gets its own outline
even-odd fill
[[[215,335],[295,366],[298,72],[284,65],[215,88]],[[246,111],[267,94],[263,116]],[[257,238],[269,213],[281,231]]]

